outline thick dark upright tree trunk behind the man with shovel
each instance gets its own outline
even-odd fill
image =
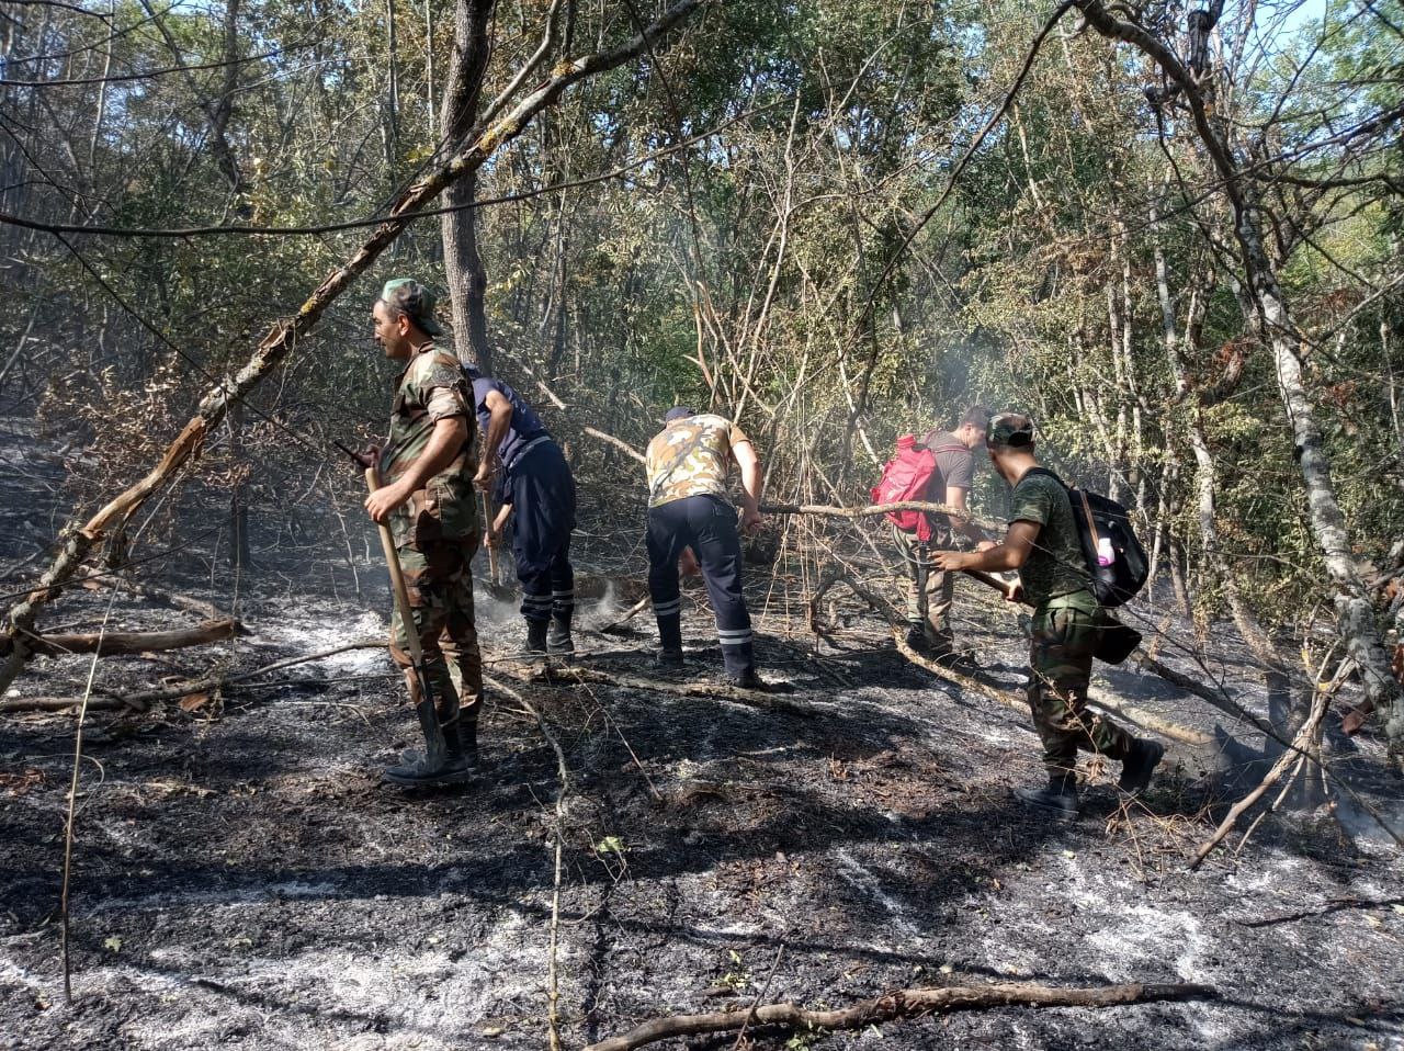
[[[453,6],[453,58],[445,77],[439,131],[444,141],[458,143],[473,126],[487,72],[490,44],[487,28],[494,0],[456,0]],[[444,239],[444,274],[453,313],[458,355],[484,372],[493,371],[493,347],[487,339],[487,271],[477,250],[477,173],[448,190],[448,204],[463,211],[439,221]]]

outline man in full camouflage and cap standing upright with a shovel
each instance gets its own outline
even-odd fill
[[[395,611],[390,656],[404,669],[425,745],[423,755],[406,753],[385,777],[403,785],[453,784],[468,780],[477,762],[483,698],[469,569],[480,535],[472,483],[473,396],[458,358],[434,344],[441,329],[427,288],[410,278],[386,282],[372,322],[385,355],[404,368],[395,381],[390,437],[379,452],[382,488],[365,507],[390,527],[404,572],[414,624],[406,625]],[[432,698],[423,696],[411,666],[407,628],[418,637],[420,670]]]

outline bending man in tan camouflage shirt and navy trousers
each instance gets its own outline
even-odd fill
[[[740,427],[723,416],[677,406],[649,443],[649,594],[658,620],[658,663],[682,665],[678,558],[692,548],[716,613],[726,680],[761,688],[755,674],[751,615],[741,597],[741,538],[726,499],[734,459],[741,471],[741,528],[761,524],[761,461]]]

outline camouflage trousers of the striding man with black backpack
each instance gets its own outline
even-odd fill
[[[1092,653],[1102,613],[1087,592],[1052,599],[1033,611],[1029,646],[1029,708],[1033,729],[1043,740],[1043,764],[1050,774],[1077,769],[1077,752],[1098,752],[1123,760],[1133,738],[1102,715],[1087,711]]]

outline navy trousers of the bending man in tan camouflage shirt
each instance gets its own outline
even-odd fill
[[[753,667],[751,615],[741,597],[736,509],[716,496],[688,496],[649,509],[649,596],[664,648],[681,645],[678,558],[692,548],[702,566],[729,672]]]

